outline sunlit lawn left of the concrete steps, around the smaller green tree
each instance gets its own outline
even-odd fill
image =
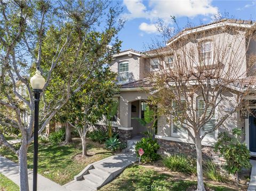
[[[113,153],[107,151],[102,145],[87,141],[87,153],[93,156],[82,159],[77,157],[82,153],[82,145],[78,140],[68,145],[39,144],[38,147],[38,173],[46,178],[64,185],[74,179],[74,176],[81,172],[86,165],[105,159]],[[7,148],[2,148],[1,155],[17,162],[18,158]],[[28,148],[28,168],[33,169],[33,144]]]

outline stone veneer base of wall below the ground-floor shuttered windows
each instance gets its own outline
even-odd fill
[[[157,151],[161,155],[167,154],[183,154],[188,157],[196,158],[196,147],[194,144],[174,142],[172,140],[157,139],[157,143],[160,145]],[[212,159],[214,163],[218,164],[219,167],[223,167],[225,159],[219,157],[218,153],[213,151],[211,146],[202,146],[203,161]]]

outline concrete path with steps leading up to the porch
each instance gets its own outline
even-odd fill
[[[106,159],[94,162],[74,177],[74,180],[68,182],[65,188],[70,190],[97,190],[103,185],[108,184],[128,165],[138,161],[136,154],[121,153]]]

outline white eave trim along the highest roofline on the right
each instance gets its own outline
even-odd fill
[[[193,32],[200,32],[200,31],[203,31],[203,30],[209,30],[209,29],[213,29],[213,28],[216,28],[216,27],[224,27],[224,26],[235,26],[235,27],[251,28],[252,26],[254,26],[254,24],[255,23],[239,24],[239,23],[230,23],[230,22],[227,22],[227,21],[220,22],[220,23],[215,23],[215,24],[210,24],[209,26],[199,27],[199,28],[196,28],[196,29],[191,29],[191,30],[188,30],[188,31],[184,31],[184,32],[182,32],[182,34],[180,34],[179,36],[177,36],[173,40],[171,40],[169,43],[167,43],[166,46],[169,46],[171,43],[174,43],[174,41],[178,40],[179,38],[181,38],[185,35],[188,35],[190,33],[193,33]]]

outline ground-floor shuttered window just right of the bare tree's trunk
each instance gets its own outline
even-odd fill
[[[205,102],[202,99],[199,99],[198,101],[198,114],[199,117],[204,113],[205,109]],[[210,115],[210,112],[212,110],[212,107],[208,107],[206,111],[206,117]],[[207,122],[203,128],[201,129],[201,134],[203,135],[205,132],[211,131],[215,127],[215,113],[213,114],[213,117]],[[206,137],[215,137],[215,131],[209,132],[209,134],[206,135]]]

